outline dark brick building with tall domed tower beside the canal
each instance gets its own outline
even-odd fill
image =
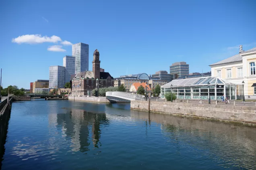
[[[88,95],[96,87],[96,79],[99,79],[99,88],[114,87],[114,78],[108,72],[100,71],[99,51],[96,49],[93,53],[93,71],[83,71],[71,75],[71,93],[72,95]]]

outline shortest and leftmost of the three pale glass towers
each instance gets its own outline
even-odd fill
[[[64,88],[66,77],[66,67],[50,66],[49,68],[49,88]]]

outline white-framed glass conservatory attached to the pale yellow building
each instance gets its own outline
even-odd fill
[[[165,93],[175,93],[177,99],[219,100],[223,95],[236,99],[236,85],[220,77],[199,77],[173,80],[161,86],[161,98]]]

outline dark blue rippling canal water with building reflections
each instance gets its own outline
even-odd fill
[[[256,169],[256,128],[130,110],[130,104],[12,104],[2,170]]]

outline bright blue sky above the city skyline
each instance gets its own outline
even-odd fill
[[[207,72],[239,45],[256,47],[255,8],[252,0],[0,1],[2,83],[29,89],[49,79],[49,66],[72,54],[68,42],[89,44],[90,61],[98,49],[113,77],[169,72],[178,61]]]

